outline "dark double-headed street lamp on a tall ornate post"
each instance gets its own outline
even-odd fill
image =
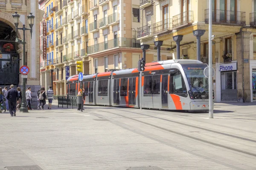
[[[16,36],[17,36],[17,30],[20,29],[20,30],[23,30],[23,66],[26,65],[26,62],[25,62],[25,51],[26,51],[26,48],[25,48],[25,44],[26,44],[26,40],[25,40],[25,31],[26,30],[30,30],[30,33],[31,33],[31,38],[32,38],[32,27],[34,25],[34,20],[35,20],[35,16],[32,15],[32,13],[29,13],[29,16],[28,16],[28,23],[29,23],[29,26],[30,26],[30,29],[27,29],[25,27],[25,24],[23,24],[23,27],[22,28],[18,28],[19,26],[19,20],[20,20],[20,15],[17,14],[17,12],[15,12],[15,14],[12,15],[13,19],[14,19],[14,24],[15,24],[15,27],[16,27]],[[21,112],[28,112],[28,108],[26,107],[26,78],[23,78],[23,88],[22,88],[22,103],[21,103],[21,106],[20,106],[20,111]]]

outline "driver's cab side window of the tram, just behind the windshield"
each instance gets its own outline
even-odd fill
[[[186,85],[180,72],[171,74],[169,89],[170,89],[169,93],[171,94],[176,94],[185,98],[188,96]]]

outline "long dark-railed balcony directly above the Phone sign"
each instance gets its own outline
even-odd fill
[[[245,12],[212,9],[212,24],[245,26]],[[205,23],[209,23],[209,9],[205,9]]]

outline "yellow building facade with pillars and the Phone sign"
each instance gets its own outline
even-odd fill
[[[256,1],[140,0],[137,39],[146,49],[171,48],[174,59],[208,63],[209,2],[215,101],[256,101]]]

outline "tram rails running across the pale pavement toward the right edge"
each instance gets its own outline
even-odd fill
[[[94,110],[102,111],[102,110],[99,110],[99,109],[94,109]],[[236,149],[236,148],[233,148],[233,147],[228,147],[228,146],[225,146],[223,144],[217,144],[215,142],[207,141],[205,139],[201,139],[201,138],[198,138],[198,137],[195,137],[195,136],[192,136],[192,135],[186,135],[184,133],[180,133],[180,132],[177,132],[175,130],[170,130],[170,129],[167,129],[167,128],[164,128],[164,127],[157,126],[155,124],[151,124],[151,123],[148,123],[148,122],[145,122],[145,121],[137,120],[135,118],[130,118],[128,116],[120,115],[120,114],[109,112],[109,111],[105,111],[105,112],[108,112],[108,113],[113,114],[113,115],[118,115],[118,116],[121,116],[123,118],[128,118],[130,120],[137,121],[137,122],[140,122],[142,124],[146,124],[146,125],[149,125],[151,127],[158,128],[160,130],[165,130],[165,131],[170,132],[170,133],[175,133],[177,135],[181,135],[181,136],[184,136],[184,137],[187,137],[187,138],[191,138],[191,139],[194,139],[194,140],[197,140],[197,141],[201,141],[201,142],[204,142],[204,143],[207,143],[207,144],[212,144],[212,145],[215,145],[215,146],[218,146],[218,147],[223,147],[223,148],[226,148],[226,149],[229,149],[229,150],[233,150],[233,151],[236,151],[236,152],[239,152],[239,153],[244,153],[244,154],[256,157],[255,153],[250,153],[250,152],[247,152],[247,151],[244,151],[244,150],[239,150],[239,149]],[[129,111],[126,111],[126,112],[129,112]],[[139,115],[145,115],[145,114],[136,113],[136,112],[131,112],[131,113],[135,113],[135,114],[139,114]],[[101,115],[101,116],[104,117],[104,115]],[[149,116],[149,115],[146,115],[146,116]],[[151,117],[152,118],[158,118],[156,116],[151,116]],[[160,118],[160,119],[165,120],[165,121],[170,121],[170,122],[173,122],[173,123],[177,123],[177,124],[181,124],[181,125],[188,126],[188,127],[194,127],[194,128],[198,128],[198,129],[201,129],[201,130],[207,130],[205,128],[196,127],[196,126],[189,125],[189,124],[184,124],[184,123],[181,123],[181,122],[171,121],[171,120],[165,119],[165,118]],[[230,136],[230,137],[233,137],[233,138],[239,138],[241,140],[256,142],[255,140],[251,140],[251,139],[247,139],[247,138],[242,138],[242,137],[235,136],[235,135],[230,135],[230,134],[227,134],[227,133],[221,133],[221,132],[217,132],[217,131],[214,131],[214,130],[207,130],[207,131],[212,132],[212,133],[218,133],[218,134],[221,134],[221,135]]]

